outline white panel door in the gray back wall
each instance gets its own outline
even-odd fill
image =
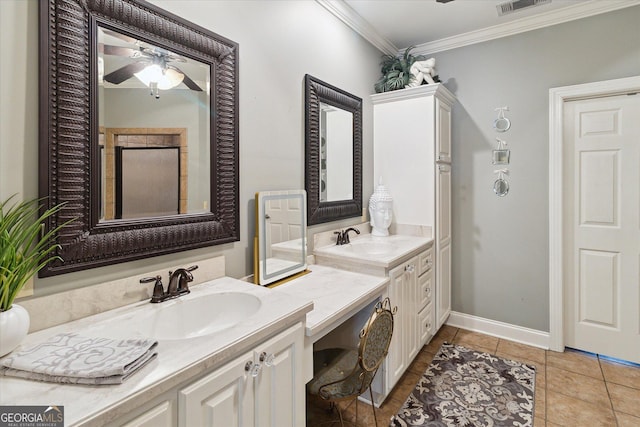
[[[640,95],[564,114],[565,345],[640,363]]]

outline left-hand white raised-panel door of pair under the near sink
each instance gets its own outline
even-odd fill
[[[253,363],[246,353],[178,392],[181,427],[250,427],[254,425]]]

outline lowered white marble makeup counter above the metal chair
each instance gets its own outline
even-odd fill
[[[306,335],[315,342],[383,294],[387,277],[310,265],[309,274],[286,282],[274,292],[313,300],[307,313]]]

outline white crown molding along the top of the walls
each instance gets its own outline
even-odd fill
[[[349,7],[344,0],[316,0],[329,12],[354,31],[364,37],[369,43],[383,53],[396,55],[402,52],[388,39],[380,35],[377,30],[364,20],[355,10]],[[512,36],[538,28],[562,24],[576,19],[587,18],[601,13],[612,12],[626,7],[636,6],[640,0],[588,0],[562,9],[551,10],[504,24],[494,25],[477,31],[446,37],[417,45],[413,49],[414,55],[431,55],[436,52],[469,46],[501,37]],[[404,49],[403,49],[404,50]]]

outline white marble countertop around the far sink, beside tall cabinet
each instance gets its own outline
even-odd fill
[[[344,268],[345,264],[391,268],[433,245],[428,237],[390,235],[376,237],[371,234],[351,239],[346,245],[329,245],[316,248],[318,264]],[[359,271],[363,271],[359,269]]]

